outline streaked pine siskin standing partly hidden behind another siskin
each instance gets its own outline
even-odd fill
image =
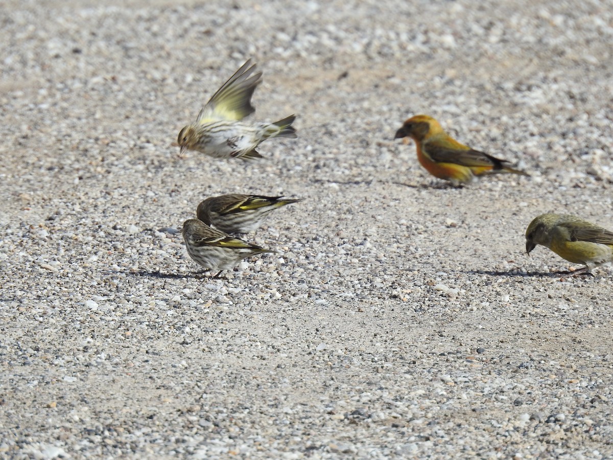
[[[283,196],[221,195],[200,202],[196,216],[205,224],[228,233],[249,233],[259,228],[273,209],[302,199]]]

